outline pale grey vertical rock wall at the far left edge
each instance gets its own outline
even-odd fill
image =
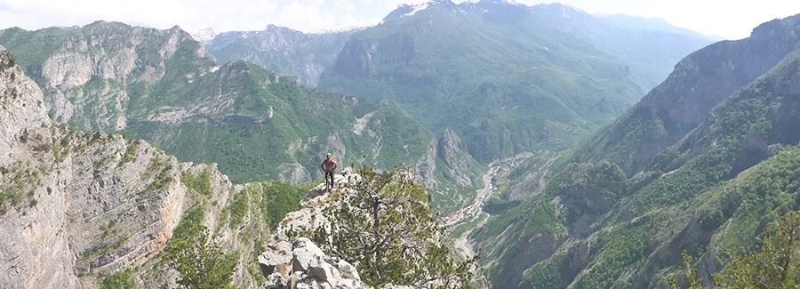
[[[49,132],[50,125],[42,92],[0,46],[0,231],[4,236],[0,245],[4,269],[0,284],[3,286],[77,285],[71,270],[75,255],[69,252],[63,231],[66,218],[60,210],[55,210],[66,203],[58,186],[59,173],[52,169],[39,173],[37,166],[44,164],[36,162],[35,157],[50,153],[50,138],[39,135],[41,131]],[[26,142],[20,140],[31,132],[30,140],[27,136],[23,138]],[[28,162],[31,158],[34,162]]]

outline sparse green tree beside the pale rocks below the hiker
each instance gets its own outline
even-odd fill
[[[321,228],[315,243],[357,264],[368,285],[468,285],[475,260],[453,260],[425,188],[407,171],[378,173],[362,166],[356,173],[360,177],[350,175],[347,189],[340,190],[353,194],[334,195],[341,206],[326,213],[331,236]]]

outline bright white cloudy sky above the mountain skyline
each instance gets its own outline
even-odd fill
[[[461,3],[464,0],[454,0]],[[475,1],[475,0],[473,0]],[[426,0],[0,0],[0,29],[83,26],[95,20],[216,32],[263,30],[268,24],[303,32],[375,25],[399,4]],[[516,0],[522,4],[554,1]],[[740,39],[759,24],[800,13],[798,0],[562,0],[590,13],[667,20],[708,36]]]

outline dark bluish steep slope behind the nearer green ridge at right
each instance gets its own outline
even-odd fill
[[[597,132],[575,153],[580,162],[609,160],[632,176],[695,129],[721,101],[764,75],[796,49],[795,18],[772,20],[752,36],[693,52],[668,79]]]

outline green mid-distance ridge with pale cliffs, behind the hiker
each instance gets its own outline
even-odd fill
[[[43,87],[57,119],[217,163],[231,181],[313,181],[332,152],[340,164],[417,165],[444,210],[481,185],[480,165],[453,163],[465,155],[459,147],[437,152],[450,147],[394,104],[318,92],[242,61],[218,66],[177,27],[12,28],[0,44]]]

